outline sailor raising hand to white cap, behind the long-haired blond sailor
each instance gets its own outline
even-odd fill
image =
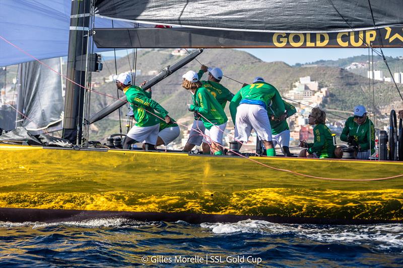
[[[209,72],[208,80],[200,80],[205,72]],[[206,65],[201,65],[200,70],[197,73],[197,78],[199,79],[201,85],[207,88],[207,90],[213,95],[214,98],[218,101],[221,107],[225,108],[227,102],[232,100],[234,94],[232,94],[228,88],[223,86],[220,81],[223,78],[223,71],[220,68],[209,68]],[[203,142],[201,148],[203,148],[203,153],[210,154],[210,145],[206,142],[203,136],[198,135],[196,130],[205,132],[205,126],[203,125],[203,121],[199,115],[194,114],[194,121],[192,129],[189,133],[189,139],[183,148],[184,151],[190,151],[195,145],[200,146],[201,142]]]

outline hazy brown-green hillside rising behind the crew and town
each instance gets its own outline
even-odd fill
[[[142,75],[136,77],[136,84],[140,84],[144,80],[150,79],[153,75],[148,75],[150,71],[160,71],[167,65],[172,65],[179,60],[180,56],[171,54],[172,49],[156,50],[142,49],[139,50],[137,56],[137,69],[141,70]],[[117,72],[125,72],[130,70],[132,55],[117,59]],[[250,83],[255,76],[262,76],[267,82],[270,82],[278,88],[281,93],[285,93],[292,87],[299,77],[311,76],[312,80],[319,82],[319,86],[328,87],[330,97],[323,105],[326,109],[351,111],[357,104],[367,106],[369,103],[368,94],[368,78],[352,73],[343,67],[338,66],[339,63],[323,61],[316,66],[290,66],[284,62],[263,62],[260,59],[240,50],[233,49],[206,49],[201,53],[197,60],[208,66],[221,67],[224,75],[231,77],[241,83]],[[354,62],[358,58],[350,58],[346,62]],[[346,63],[346,64],[347,64]],[[325,66],[325,65],[331,66]],[[186,104],[191,103],[191,95],[184,90],[180,84],[182,74],[187,70],[197,71],[200,64],[193,60],[182,69],[173,73],[157,85],[153,87],[153,99],[159,102],[170,116],[174,119],[192,120],[192,115],[186,110]],[[15,71],[9,68],[10,71]],[[108,94],[117,97],[116,85],[113,81],[105,82],[108,76],[115,73],[114,60],[104,62],[104,68],[99,73],[93,73],[92,81],[97,84],[93,90],[102,94]],[[10,77],[10,75],[8,75]],[[207,75],[202,79],[207,79]],[[222,79],[222,84],[228,87],[233,93],[236,93],[241,87],[241,83],[233,81],[227,77]],[[375,81],[375,105],[384,106],[397,101],[398,95],[396,88],[391,82]],[[108,104],[114,101],[113,98],[103,96],[93,92],[91,94],[91,115],[95,114]],[[119,92],[119,96],[122,93]],[[228,105],[227,105],[228,113]],[[126,124],[125,113],[127,108],[121,110],[123,131]],[[341,114],[346,116],[346,114]],[[112,132],[119,131],[118,113],[114,112],[106,119],[95,123],[91,127],[90,139],[103,140]]]

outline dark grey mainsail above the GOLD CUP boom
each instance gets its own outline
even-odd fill
[[[168,4],[169,3],[169,4]],[[401,0],[371,1],[376,27],[403,25]],[[270,32],[374,28],[363,0],[96,0],[97,14],[141,23]]]

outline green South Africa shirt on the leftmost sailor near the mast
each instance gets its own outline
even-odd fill
[[[168,115],[168,112],[161,105],[151,99],[151,94],[145,92],[141,87],[131,85],[124,88],[123,92],[133,110],[133,116],[137,122],[136,126],[150,127],[159,124],[160,119],[151,114],[156,114],[154,110],[158,111],[162,118]]]

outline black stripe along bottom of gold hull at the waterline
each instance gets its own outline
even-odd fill
[[[127,212],[127,211],[97,211],[97,210],[59,210],[59,209],[15,209],[0,208],[0,221],[8,222],[61,222],[82,221],[95,218],[123,217],[138,221],[182,220],[188,223],[203,222],[238,222],[242,220],[264,220],[273,223],[297,224],[374,224],[374,223],[403,223],[391,220],[362,220],[362,219],[329,219],[307,217],[271,217],[252,215],[222,215],[196,213],[160,213],[160,212]]]

